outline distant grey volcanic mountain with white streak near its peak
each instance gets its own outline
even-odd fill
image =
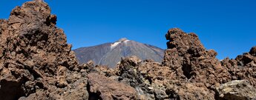
[[[122,57],[137,56],[142,60],[153,59],[161,62],[164,50],[150,44],[142,44],[128,39],[119,39],[114,43],[99,44],[93,47],[81,47],[74,50],[80,64],[92,60],[95,64],[114,68]]]

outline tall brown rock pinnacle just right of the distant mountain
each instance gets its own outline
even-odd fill
[[[163,65],[171,67],[174,79],[201,82],[206,87],[231,80],[226,68],[215,58],[217,53],[206,50],[196,34],[174,28],[168,30],[165,37],[169,41]]]

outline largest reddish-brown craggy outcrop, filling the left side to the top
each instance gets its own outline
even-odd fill
[[[71,45],[44,1],[14,8],[0,24],[0,99],[88,98],[87,79],[74,71]]]

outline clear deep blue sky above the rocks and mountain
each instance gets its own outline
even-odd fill
[[[0,18],[27,0],[1,0]],[[218,59],[256,45],[256,0],[45,0],[73,49],[122,37],[166,48],[171,27],[194,32]]]

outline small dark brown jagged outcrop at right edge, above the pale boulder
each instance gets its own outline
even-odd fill
[[[222,61],[223,67],[226,67],[232,75],[232,80],[246,79],[256,87],[255,48],[252,47],[249,53],[243,53],[243,55],[237,56],[236,59],[227,58]]]

